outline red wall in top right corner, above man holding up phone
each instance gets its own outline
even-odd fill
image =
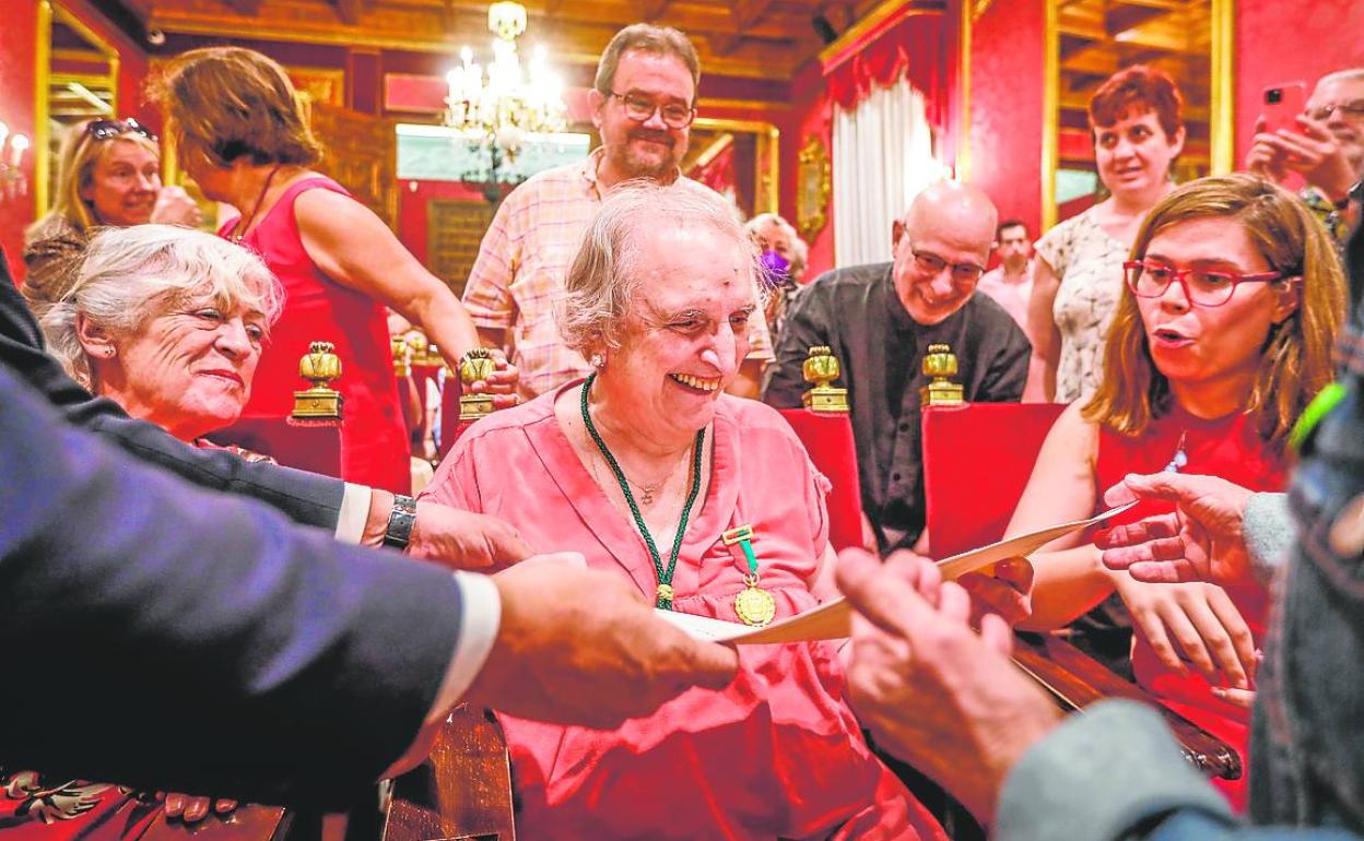
[[[1285,31],[1285,26],[1290,31]],[[1260,91],[1277,82],[1316,80],[1364,67],[1364,3],[1359,0],[1240,0],[1236,4],[1236,164],[1245,161]]]

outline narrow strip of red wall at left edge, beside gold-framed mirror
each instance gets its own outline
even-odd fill
[[[30,0],[4,0],[4,25],[0,26],[0,121],[12,134],[34,140],[33,91],[37,86],[34,53],[38,33],[38,4]],[[0,199],[0,247],[10,260],[15,278],[23,269],[23,226],[33,221],[33,150],[25,157],[29,195]]]

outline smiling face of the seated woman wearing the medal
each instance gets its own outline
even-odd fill
[[[597,387],[626,398],[637,433],[686,446],[749,353],[752,258],[708,226],[640,226],[640,285]]]

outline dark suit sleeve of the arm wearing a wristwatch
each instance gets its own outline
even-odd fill
[[[130,418],[113,401],[91,397],[44,350],[33,314],[15,289],[0,254],[0,363],[42,393],[72,424],[98,432],[139,459],[214,491],[254,496],[300,523],[334,529],[345,485],[340,480],[231,453],[198,450],[154,424]]]

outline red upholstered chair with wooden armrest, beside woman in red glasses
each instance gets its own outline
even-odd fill
[[[923,491],[933,557],[1000,540],[1052,423],[1064,406],[959,403],[923,409]],[[1210,777],[1241,776],[1226,743],[1172,713],[1136,684],[1056,634],[1019,634],[1013,660],[1067,710],[1129,698],[1159,712],[1185,758]]]

